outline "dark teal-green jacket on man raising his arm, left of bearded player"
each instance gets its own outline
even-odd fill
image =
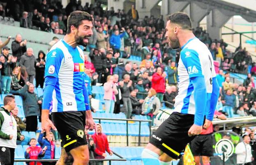
[[[25,117],[27,116],[39,116],[40,111],[39,111],[39,105],[38,101],[41,100],[38,98],[37,94],[30,93],[27,91],[28,86],[25,85],[21,90],[20,90],[20,95],[23,98],[23,108],[25,112]]]

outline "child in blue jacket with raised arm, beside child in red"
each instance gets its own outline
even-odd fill
[[[45,131],[41,130],[38,136],[38,143],[42,148],[46,147],[46,151],[42,159],[54,159],[55,157],[55,143],[53,141],[53,132],[49,132],[46,137],[43,137]],[[43,165],[54,165],[55,163],[43,163]]]

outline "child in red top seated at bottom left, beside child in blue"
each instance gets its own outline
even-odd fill
[[[38,159],[40,157],[43,157],[45,154],[47,147],[44,147],[43,149],[39,146],[37,146],[37,139],[31,138],[30,139],[30,147],[27,147],[25,151],[25,158],[26,159]],[[29,165],[35,165],[34,162],[30,162]],[[41,165],[40,162],[37,162],[37,165]]]

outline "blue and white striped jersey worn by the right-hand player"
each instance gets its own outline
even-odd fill
[[[194,87],[190,78],[204,78],[207,91],[206,108],[210,108],[212,80],[216,77],[213,57],[208,47],[198,38],[190,39],[181,49],[178,62],[178,95],[175,98],[174,111],[195,114]]]

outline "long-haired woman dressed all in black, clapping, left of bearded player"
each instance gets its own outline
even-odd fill
[[[44,82],[44,70],[45,70],[45,60],[46,55],[43,51],[38,52],[38,58],[36,59],[36,87],[43,88],[43,82]]]

